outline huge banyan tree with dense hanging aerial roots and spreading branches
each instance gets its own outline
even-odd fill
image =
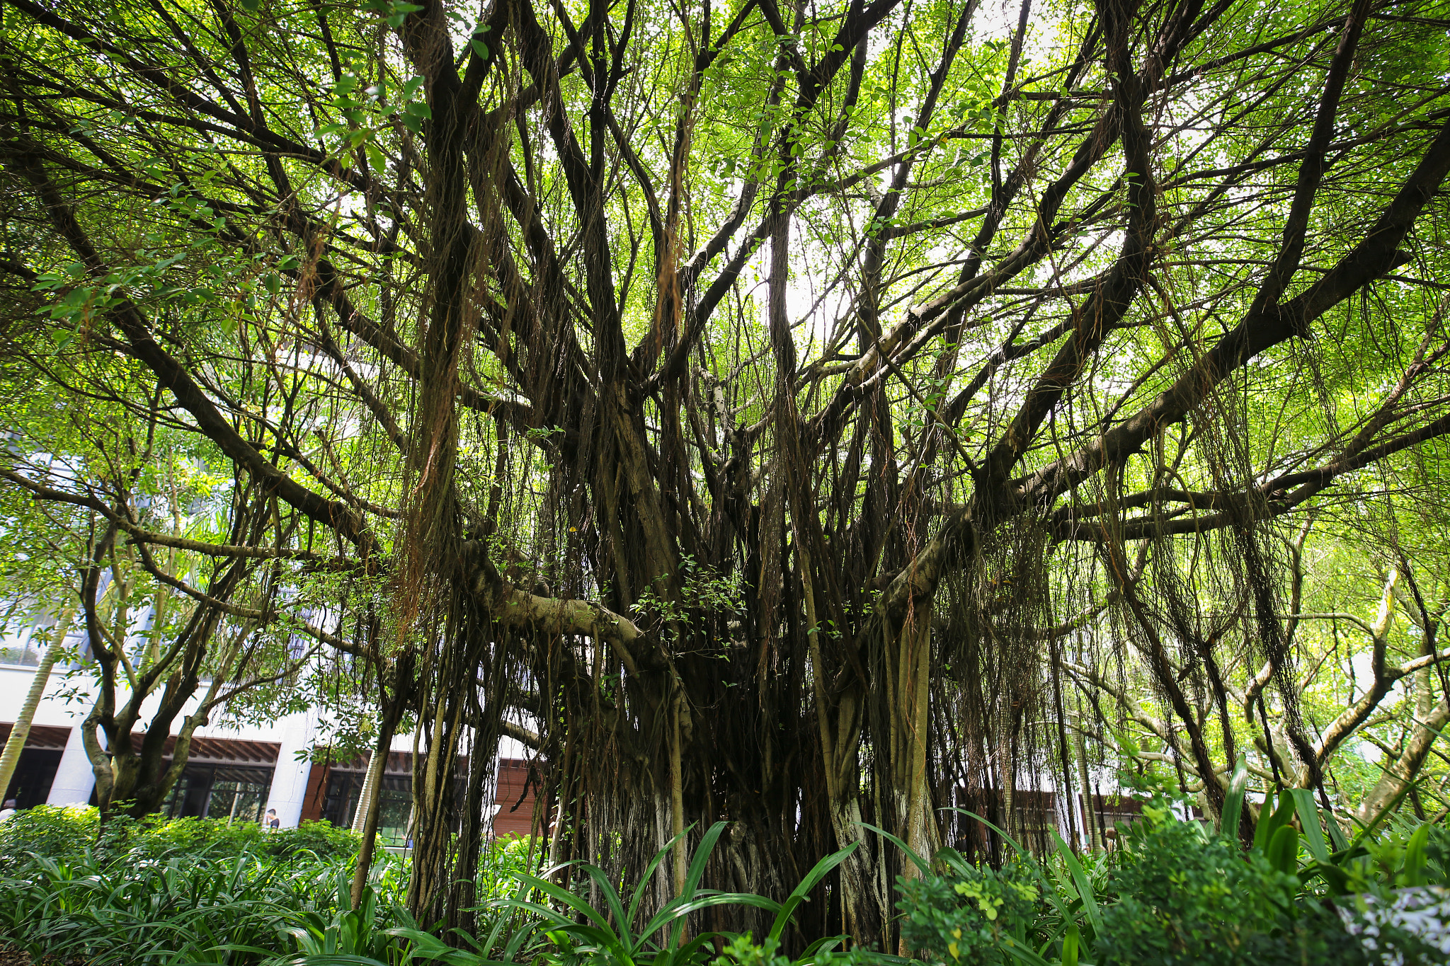
[[[7,384],[267,494],[190,549],[331,588],[261,617],[368,668],[380,749],[416,720],[429,921],[508,733],[550,859],[693,830],[658,899],[725,820],[708,885],[783,895],[856,843],[803,928],[889,943],[915,866],[866,826],[929,854],[1072,788],[1099,614],[1212,814],[1190,691],[1228,639],[1293,673],[1280,530],[1450,430],[1430,0],[0,12]]]

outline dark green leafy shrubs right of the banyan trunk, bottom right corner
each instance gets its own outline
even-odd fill
[[[1005,834],[1016,856],[1002,869],[911,856],[922,875],[900,881],[902,937],[945,966],[1450,966],[1444,828],[1348,843],[1308,792],[1286,791],[1246,850],[1180,811],[1156,792],[1112,852],[1088,857],[1058,839],[1038,860]]]

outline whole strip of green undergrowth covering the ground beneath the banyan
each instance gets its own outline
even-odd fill
[[[1289,802],[1264,808],[1256,846],[1177,817],[1159,795],[1122,824],[1119,846],[1086,859],[1064,843],[1025,849],[1000,869],[944,849],[902,878],[903,952],[940,966],[1440,966],[1450,962],[1450,833],[1420,824],[1333,843],[1317,820],[1292,821]],[[1309,815],[1314,815],[1309,805]],[[9,823],[7,823],[9,824]],[[88,963],[336,966],[442,960],[535,966],[903,966],[911,962],[847,936],[821,937],[795,957],[782,937],[813,886],[850,849],[819,862],[784,902],[702,888],[724,831],[708,830],[686,888],[657,911],[596,866],[541,870],[532,843],[497,843],[480,869],[477,938],[441,943],[403,910],[402,869],[374,869],[351,899],[348,833],[238,834],[220,821],[158,828],[120,826],[99,846],[81,810],[36,811],[0,843],[0,941],[35,956]],[[91,828],[87,828],[91,826]],[[61,837],[57,830],[71,834]],[[332,854],[300,849],[329,843]],[[206,844],[200,844],[200,843]],[[184,843],[184,847],[177,847]],[[355,841],[351,841],[355,847]],[[1341,847],[1334,849],[1334,844]],[[28,853],[14,852],[29,846]],[[270,847],[268,847],[270,846]],[[854,847],[854,846],[853,846]],[[655,856],[666,859],[668,849]],[[687,930],[686,914],[753,907],[770,925],[754,936]],[[716,954],[716,950],[719,953]],[[351,959],[345,959],[351,957]]]

